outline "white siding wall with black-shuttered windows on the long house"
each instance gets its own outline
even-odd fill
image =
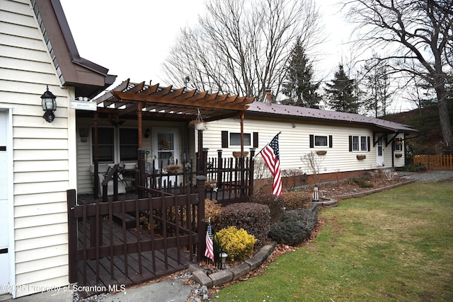
[[[259,144],[256,149],[258,153],[270,142],[278,132],[280,143],[280,167],[284,169],[299,168],[304,173],[311,174],[311,171],[304,165],[301,157],[311,151],[327,151],[325,156],[318,156],[320,173],[336,173],[353,170],[369,170],[377,168],[377,151],[373,146],[372,129],[357,126],[343,126],[339,124],[321,124],[313,122],[287,122],[285,120],[256,120],[249,117],[244,120],[244,133],[258,132]],[[294,124],[295,127],[292,127]],[[203,132],[204,146],[209,148],[208,156],[216,156],[217,149],[222,149],[221,132],[241,132],[239,120],[226,119],[210,122],[208,129]],[[319,136],[332,136],[332,148],[328,146],[315,146],[310,148],[310,134]],[[349,136],[370,137],[370,151],[349,151]],[[253,141],[253,134],[252,134]],[[253,143],[252,143],[253,144]],[[248,151],[250,146],[244,146]],[[232,156],[232,151],[239,151],[239,146],[222,149],[223,157]],[[357,155],[366,155],[364,160],[357,160]],[[391,165],[391,144],[384,148],[384,160]],[[400,160],[400,158],[398,158]],[[404,159],[401,158],[404,162]]]

